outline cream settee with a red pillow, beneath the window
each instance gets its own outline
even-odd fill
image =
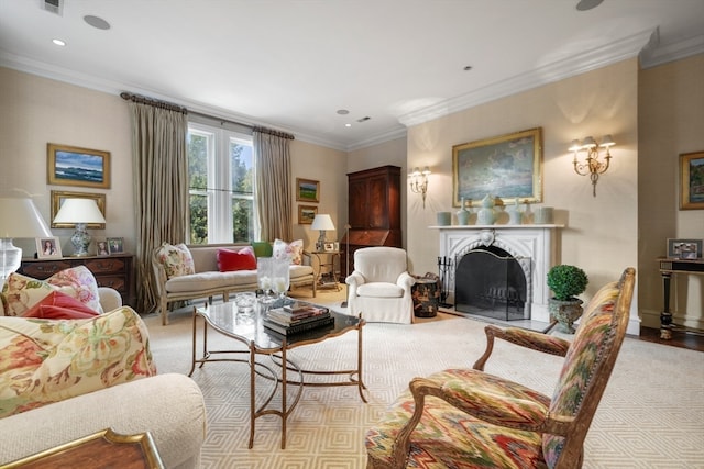
[[[310,259],[302,252],[301,243],[275,242],[271,257],[288,258],[290,288],[310,287],[316,297],[316,278]],[[268,243],[267,243],[268,244]],[[230,293],[255,291],[257,286],[256,258],[250,245],[170,245],[165,243],[154,249],[152,265],[158,292],[158,310],[162,323],[168,324],[169,303],[201,298],[222,297]]]

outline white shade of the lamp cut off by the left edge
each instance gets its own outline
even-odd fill
[[[0,198],[0,238],[52,236],[32,199]]]

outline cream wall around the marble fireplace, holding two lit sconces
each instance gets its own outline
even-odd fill
[[[430,166],[424,210],[408,210],[408,252],[415,272],[437,271],[436,212],[452,206],[452,146],[527,129],[542,127],[543,205],[554,206],[561,233],[561,263],[582,267],[590,298],[624,268],[638,264],[636,59],[625,60],[408,130],[408,166]],[[588,177],[572,168],[569,144],[587,135],[612,134],[612,167],[592,197]],[[408,194],[409,200],[413,194]],[[637,328],[636,328],[637,330]]]

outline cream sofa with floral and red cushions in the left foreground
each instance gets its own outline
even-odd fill
[[[112,428],[148,431],[168,468],[199,467],[198,386],[156,375],[146,325],[117,291],[80,269],[51,280],[12,273],[0,294],[0,466]]]

